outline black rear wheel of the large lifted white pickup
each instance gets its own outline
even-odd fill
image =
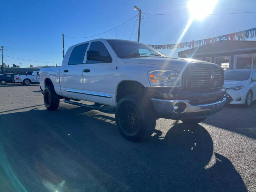
[[[54,91],[52,85],[48,85],[44,89],[44,105],[50,111],[55,111],[60,105],[60,97]]]

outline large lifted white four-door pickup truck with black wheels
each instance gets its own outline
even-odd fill
[[[151,136],[157,118],[200,123],[220,112],[226,100],[219,65],[170,58],[146,44],[117,39],[71,46],[61,67],[40,70],[40,86],[48,110],[65,99],[115,112],[120,133],[131,141]]]

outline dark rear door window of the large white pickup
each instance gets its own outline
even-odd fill
[[[88,47],[88,44],[89,43],[78,45],[73,49],[73,51],[69,57],[68,65],[83,64],[84,54]]]

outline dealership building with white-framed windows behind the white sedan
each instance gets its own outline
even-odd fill
[[[256,69],[256,41],[217,41],[178,52],[178,57],[209,61],[224,69]]]

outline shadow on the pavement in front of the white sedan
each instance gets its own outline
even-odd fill
[[[256,101],[249,108],[243,105],[225,105],[219,114],[208,117],[203,123],[256,139],[255,111]]]

